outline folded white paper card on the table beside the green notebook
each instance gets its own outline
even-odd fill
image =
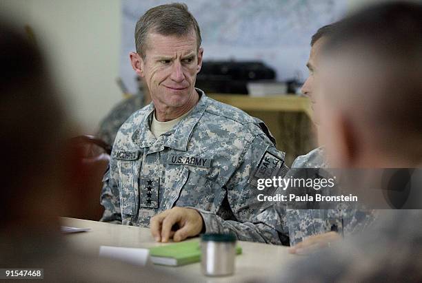
[[[152,264],[149,249],[101,246],[99,256],[139,266]]]

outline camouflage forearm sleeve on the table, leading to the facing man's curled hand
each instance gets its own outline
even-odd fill
[[[238,240],[288,245],[288,231],[283,209],[272,205],[250,222],[223,220],[209,211],[199,210],[206,233],[234,233]]]

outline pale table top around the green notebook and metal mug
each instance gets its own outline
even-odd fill
[[[67,242],[74,249],[98,255],[100,246],[150,248],[157,243],[150,229],[119,224],[110,224],[75,218],[61,218],[62,224],[77,228],[90,228],[91,231],[66,235]],[[301,258],[288,253],[287,247],[254,242],[239,241],[243,253],[236,258],[236,272],[228,277],[206,277],[201,273],[199,263],[185,266],[155,266],[174,275],[188,275],[195,282],[245,282],[256,277],[276,276],[287,264]]]

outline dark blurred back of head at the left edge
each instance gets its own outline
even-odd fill
[[[0,212],[8,221],[25,218],[57,180],[62,112],[37,48],[16,30],[0,24]],[[50,207],[49,209],[54,209]]]

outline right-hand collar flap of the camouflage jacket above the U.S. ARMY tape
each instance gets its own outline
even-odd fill
[[[201,96],[197,105],[195,105],[190,114],[183,118],[174,129],[164,134],[166,137],[164,145],[166,147],[181,151],[188,150],[188,143],[192,136],[192,130],[195,125],[197,125],[199,119],[201,119],[203,112],[205,112],[208,105],[208,97],[205,93],[196,87],[195,90],[197,90],[199,96]]]

